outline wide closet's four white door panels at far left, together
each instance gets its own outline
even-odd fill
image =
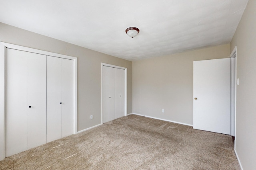
[[[10,48],[5,61],[5,157],[74,134],[75,61]]]

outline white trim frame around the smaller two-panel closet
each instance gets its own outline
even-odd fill
[[[123,69],[125,72],[124,116],[127,115],[127,68],[107,63],[101,63],[101,124],[103,124],[103,66],[120,68]]]

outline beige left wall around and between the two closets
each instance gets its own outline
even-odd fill
[[[101,123],[101,63],[127,68],[127,113],[132,113],[131,61],[4,23],[0,23],[0,41],[78,58],[78,131]],[[90,119],[90,115],[94,118]]]

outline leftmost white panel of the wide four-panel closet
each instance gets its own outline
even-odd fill
[[[28,149],[28,54],[6,49],[6,152]]]

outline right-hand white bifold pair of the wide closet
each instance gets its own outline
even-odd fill
[[[73,63],[47,56],[47,142],[74,133]]]

